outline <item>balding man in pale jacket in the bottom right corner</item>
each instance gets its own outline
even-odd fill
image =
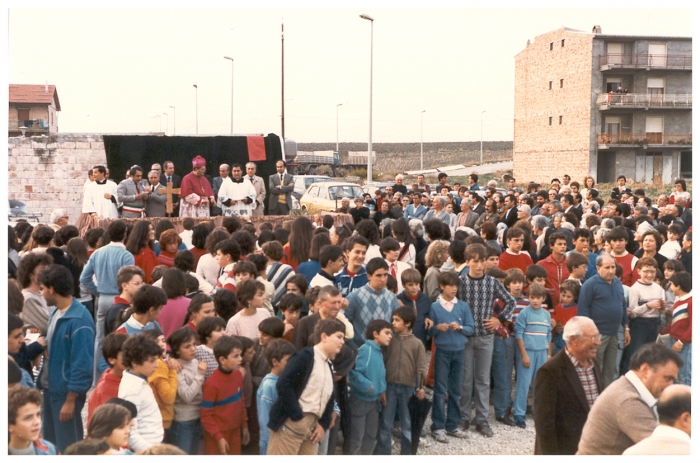
[[[623,455],[690,455],[690,386],[673,384],[656,404],[659,425]]]

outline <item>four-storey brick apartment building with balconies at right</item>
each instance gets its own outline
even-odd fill
[[[692,39],[561,28],[515,57],[513,175],[672,183],[692,165]]]

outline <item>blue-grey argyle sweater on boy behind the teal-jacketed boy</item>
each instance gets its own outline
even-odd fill
[[[391,313],[398,309],[396,295],[386,288],[375,291],[370,285],[353,291],[348,295],[345,317],[355,329],[353,341],[360,346],[365,342],[365,330],[372,320],[386,320],[391,323]]]

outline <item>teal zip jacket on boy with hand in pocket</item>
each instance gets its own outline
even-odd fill
[[[367,340],[357,351],[355,368],[350,371],[350,394],[374,402],[385,391],[386,368],[382,348],[376,342]]]

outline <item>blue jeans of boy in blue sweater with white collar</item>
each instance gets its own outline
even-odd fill
[[[470,341],[471,342],[471,341]],[[457,429],[461,419],[459,399],[462,397],[464,351],[435,350],[435,388],[433,389],[432,431]],[[447,394],[447,421],[445,421]]]

